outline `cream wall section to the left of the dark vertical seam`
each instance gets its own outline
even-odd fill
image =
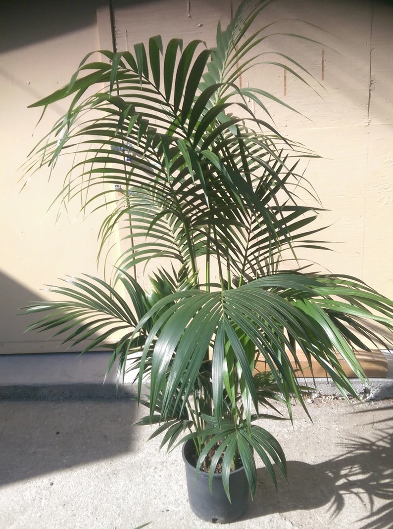
[[[45,284],[58,283],[57,278],[97,272],[100,215],[84,220],[76,203],[58,222],[57,206],[47,212],[61,189],[67,165],[59,163],[49,184],[48,171],[40,171],[22,192],[22,183],[18,182],[22,171],[18,168],[33,145],[66,111],[64,103],[53,105],[34,130],[41,110],[26,107],[67,83],[85,54],[100,49],[96,11],[99,6],[94,0],[2,2],[0,353],[3,354],[62,350],[57,349],[59,341],[48,341],[48,336],[23,334],[31,320],[16,317],[17,309],[31,300],[53,298],[40,289]],[[105,28],[104,15],[103,42],[108,30],[110,33],[110,25]]]

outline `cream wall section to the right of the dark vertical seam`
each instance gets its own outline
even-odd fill
[[[201,39],[211,46],[218,20],[222,26],[230,20],[229,0],[114,0],[113,5],[119,50],[132,50],[155,34],[162,35],[164,44],[181,37],[185,43]],[[301,255],[393,297],[393,5],[276,0],[250,32],[280,20],[270,32],[298,33],[323,45],[276,35],[257,51],[279,51],[301,63],[315,77],[307,80],[319,95],[290,72],[284,95],[283,70],[266,64],[246,72],[242,83],[266,89],[296,108],[302,115],[267,103],[281,133],[323,157],[310,161],[306,176],[329,210],[318,222],[331,225],[322,236],[333,241],[334,251]],[[269,54],[261,60],[280,62]],[[259,117],[266,116],[260,112]]]

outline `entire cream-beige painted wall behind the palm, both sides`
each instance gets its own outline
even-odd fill
[[[43,171],[19,193],[17,168],[35,141],[65,111],[64,103],[54,106],[32,137],[40,111],[26,110],[26,106],[65,84],[87,52],[110,48],[109,16],[104,1],[101,8],[93,0],[48,1],[44,7],[44,3],[21,0],[4,4],[0,351],[53,351],[56,342],[23,334],[26,319],[16,318],[15,313],[31,299],[48,297],[39,291],[43,284],[66,274],[96,273],[100,218],[83,221],[77,204],[57,224],[57,209],[47,213],[59,190],[61,166],[49,185]],[[217,21],[229,22],[229,0],[190,0],[190,5],[191,17],[185,0],[113,0],[118,49],[131,50],[134,43],[159,33],[164,42],[171,37],[186,42],[199,38],[213,45]],[[307,176],[329,209],[321,224],[331,224],[325,238],[334,241],[336,252],[305,257],[333,272],[358,276],[393,297],[393,6],[377,0],[278,0],[256,25],[278,19],[292,20],[280,22],[275,31],[300,33],[324,43],[277,36],[261,47],[261,51],[280,50],[301,62],[323,85],[324,89],[310,81],[321,97],[289,72],[284,96],[283,71],[274,66],[262,65],[242,78],[243,85],[263,87],[307,116],[270,105],[282,133],[324,157],[309,163]]]

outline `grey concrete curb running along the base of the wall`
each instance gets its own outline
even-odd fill
[[[108,352],[0,355],[0,399],[59,400],[59,399],[117,399],[136,395],[132,376],[116,388],[113,367],[103,384],[108,366]],[[393,354],[388,360],[387,378],[370,378],[366,388],[357,378],[350,379],[365,400],[393,397]],[[299,378],[299,384],[315,388],[321,395],[340,395],[333,382],[326,378]]]

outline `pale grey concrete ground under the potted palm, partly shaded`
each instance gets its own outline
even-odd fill
[[[297,406],[264,426],[288,459],[279,492],[258,467],[247,516],[233,529],[385,529],[393,526],[393,400],[352,407],[317,398],[314,424]],[[158,451],[142,409],[118,400],[25,400],[0,404],[3,529],[192,529],[211,527],[187,505],[180,448]]]

